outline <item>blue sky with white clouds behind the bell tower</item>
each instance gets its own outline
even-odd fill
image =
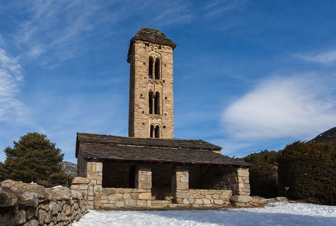
[[[0,149],[36,131],[76,163],[76,132],[127,136],[127,51],[148,26],[177,44],[175,138],[229,156],[309,140],[336,126],[335,11],[327,0],[2,0]]]

